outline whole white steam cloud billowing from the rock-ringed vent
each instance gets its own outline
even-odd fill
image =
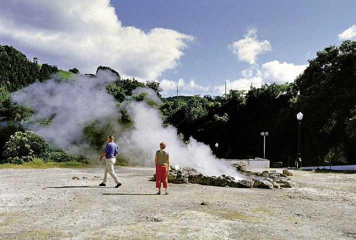
[[[121,127],[117,122],[119,114],[114,98],[105,89],[115,79],[110,71],[99,70],[94,78],[81,75],[58,78],[54,76],[45,83],[33,83],[11,94],[13,101],[35,112],[31,119],[22,123],[23,126],[52,145],[96,161],[98,153],[83,141],[82,129],[88,121],[99,120],[109,126],[120,154],[132,164],[152,167],[155,151],[159,149],[159,143],[165,141],[171,165],[194,168],[204,175],[225,174],[241,179],[231,165],[216,159],[207,145],[193,138],[184,144],[175,128],[162,127],[158,111],[143,101],[128,98],[121,103],[133,119],[129,130]],[[145,91],[151,100],[159,101],[153,90],[136,89],[137,93],[141,91]],[[34,123],[43,118],[51,119],[49,126]]]

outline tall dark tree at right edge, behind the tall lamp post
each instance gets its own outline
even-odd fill
[[[295,80],[300,93],[297,108],[305,116],[303,154],[307,158],[316,159],[334,149],[342,151],[343,159],[356,158],[355,142],[347,128],[356,106],[355,76],[356,42],[347,40],[318,51]]]

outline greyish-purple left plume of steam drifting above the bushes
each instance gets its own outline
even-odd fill
[[[26,128],[57,147],[73,151],[72,145],[80,140],[87,121],[118,118],[113,96],[105,89],[114,74],[98,71],[95,78],[81,75],[73,75],[71,79],[58,77],[45,83],[35,82],[12,93],[11,98],[35,112],[23,123]],[[35,123],[43,118],[51,119],[50,126]]]

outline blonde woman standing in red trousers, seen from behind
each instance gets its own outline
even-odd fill
[[[168,167],[169,167],[169,154],[165,150],[165,142],[159,143],[159,150],[156,151],[154,158],[154,165],[156,170],[156,188],[158,189],[157,195],[160,195],[160,188],[163,184],[165,194],[168,194]]]

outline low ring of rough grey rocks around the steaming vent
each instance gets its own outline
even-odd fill
[[[277,173],[275,170],[266,170],[263,172],[246,171],[243,167],[243,162],[234,164],[237,172],[243,176],[242,180],[235,180],[231,176],[203,176],[192,168],[180,168],[179,166],[170,166],[168,171],[168,183],[194,183],[200,185],[209,185],[216,187],[231,187],[231,188],[292,188],[297,187],[287,176],[292,176],[288,170],[283,170],[283,173]],[[153,181],[155,176],[153,175]]]

